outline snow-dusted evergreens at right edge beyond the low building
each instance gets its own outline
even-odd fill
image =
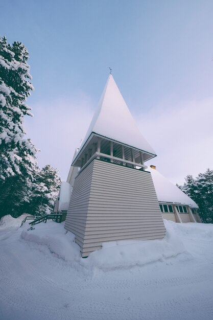
[[[184,185],[178,187],[197,203],[202,221],[213,223],[213,170],[207,169],[195,179],[187,175]]]

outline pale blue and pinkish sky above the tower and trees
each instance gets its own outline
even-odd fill
[[[0,36],[26,45],[27,137],[66,180],[109,75],[174,183],[213,169],[213,2],[1,1]],[[125,130],[125,128],[124,128]]]

